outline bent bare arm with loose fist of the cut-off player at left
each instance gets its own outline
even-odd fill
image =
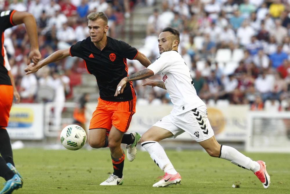
[[[12,22],[15,25],[24,23],[28,38],[30,41],[30,53],[28,55],[27,65],[31,63],[38,63],[41,58],[41,54],[39,52],[38,47],[38,38],[37,38],[37,28],[36,28],[36,21],[32,14],[28,12],[19,12],[16,11],[12,15]]]

